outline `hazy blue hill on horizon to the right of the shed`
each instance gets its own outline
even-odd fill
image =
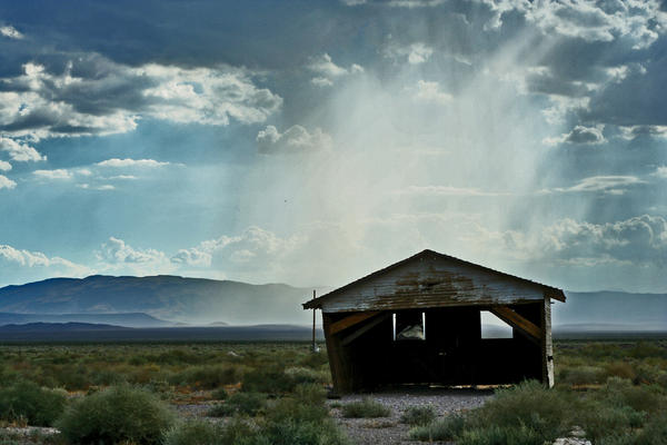
[[[566,296],[566,304],[551,306],[555,330],[667,332],[667,294],[600,290]]]

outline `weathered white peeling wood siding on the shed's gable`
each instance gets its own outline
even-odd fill
[[[545,298],[537,283],[482,268],[420,257],[381,276],[339,289],[321,301],[323,313],[390,310],[466,305],[511,305]]]

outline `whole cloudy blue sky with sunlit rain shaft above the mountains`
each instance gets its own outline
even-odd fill
[[[430,248],[667,291],[658,1],[0,1],[0,286]]]

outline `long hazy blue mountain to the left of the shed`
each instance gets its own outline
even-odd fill
[[[190,324],[225,320],[308,324],[300,304],[312,289],[281,284],[246,283],[176,276],[51,278],[0,288],[0,312],[19,314],[143,313]]]

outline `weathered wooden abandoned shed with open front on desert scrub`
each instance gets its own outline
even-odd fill
[[[303,304],[321,309],[335,390],[399,384],[554,385],[551,299],[561,289],[432,250]],[[482,338],[488,310],[510,338]]]

